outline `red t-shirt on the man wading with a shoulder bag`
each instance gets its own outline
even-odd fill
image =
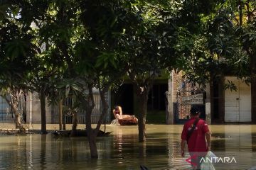
[[[181,139],[186,140],[188,130],[191,130],[196,118],[191,118],[183,126]],[[199,120],[195,130],[193,130],[188,142],[188,152],[207,152],[206,147],[206,132],[209,131],[208,125],[205,120]]]

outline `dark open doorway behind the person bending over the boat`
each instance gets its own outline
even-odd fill
[[[123,84],[119,87],[115,98],[114,105],[122,107],[123,114],[133,115],[134,100],[133,100],[133,86],[132,84]]]

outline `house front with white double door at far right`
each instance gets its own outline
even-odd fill
[[[232,81],[236,91],[224,89],[225,84]],[[212,119],[215,123],[250,123],[252,122],[251,86],[237,77],[223,77],[213,81]]]

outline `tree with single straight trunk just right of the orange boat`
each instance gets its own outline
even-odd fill
[[[139,141],[145,140],[148,94],[162,69],[183,69],[200,33],[200,15],[209,13],[213,1],[139,1],[132,4],[137,18],[125,33],[128,75],[139,99]],[[208,7],[208,8],[206,8]],[[137,22],[136,22],[137,21]]]

